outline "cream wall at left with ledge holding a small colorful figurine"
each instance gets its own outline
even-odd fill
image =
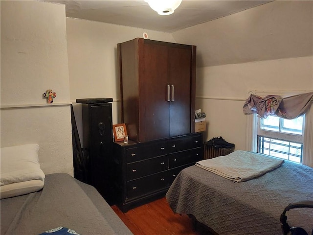
[[[64,5],[1,1],[0,124],[1,147],[38,143],[45,174],[73,175]]]

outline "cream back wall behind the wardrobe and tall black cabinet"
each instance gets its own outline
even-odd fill
[[[70,100],[109,97],[112,102],[112,122],[120,123],[120,83],[116,44],[142,38],[175,42],[169,33],[147,29],[67,18],[67,50]],[[80,141],[83,144],[81,105],[74,104]]]

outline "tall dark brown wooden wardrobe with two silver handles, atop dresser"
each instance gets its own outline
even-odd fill
[[[121,117],[146,142],[195,131],[196,46],[142,38],[117,44]]]

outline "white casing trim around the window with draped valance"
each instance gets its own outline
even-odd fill
[[[261,97],[270,94],[277,94],[282,97],[288,97],[296,94],[303,94],[312,91],[258,91],[249,90],[248,95],[255,94]],[[313,167],[313,105],[306,112],[305,118],[305,132],[303,135],[303,155],[302,164]],[[246,150],[257,152],[258,142],[258,120],[257,114],[246,115]]]

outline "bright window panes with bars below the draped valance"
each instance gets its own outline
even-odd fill
[[[302,163],[305,115],[258,118],[257,152]]]

